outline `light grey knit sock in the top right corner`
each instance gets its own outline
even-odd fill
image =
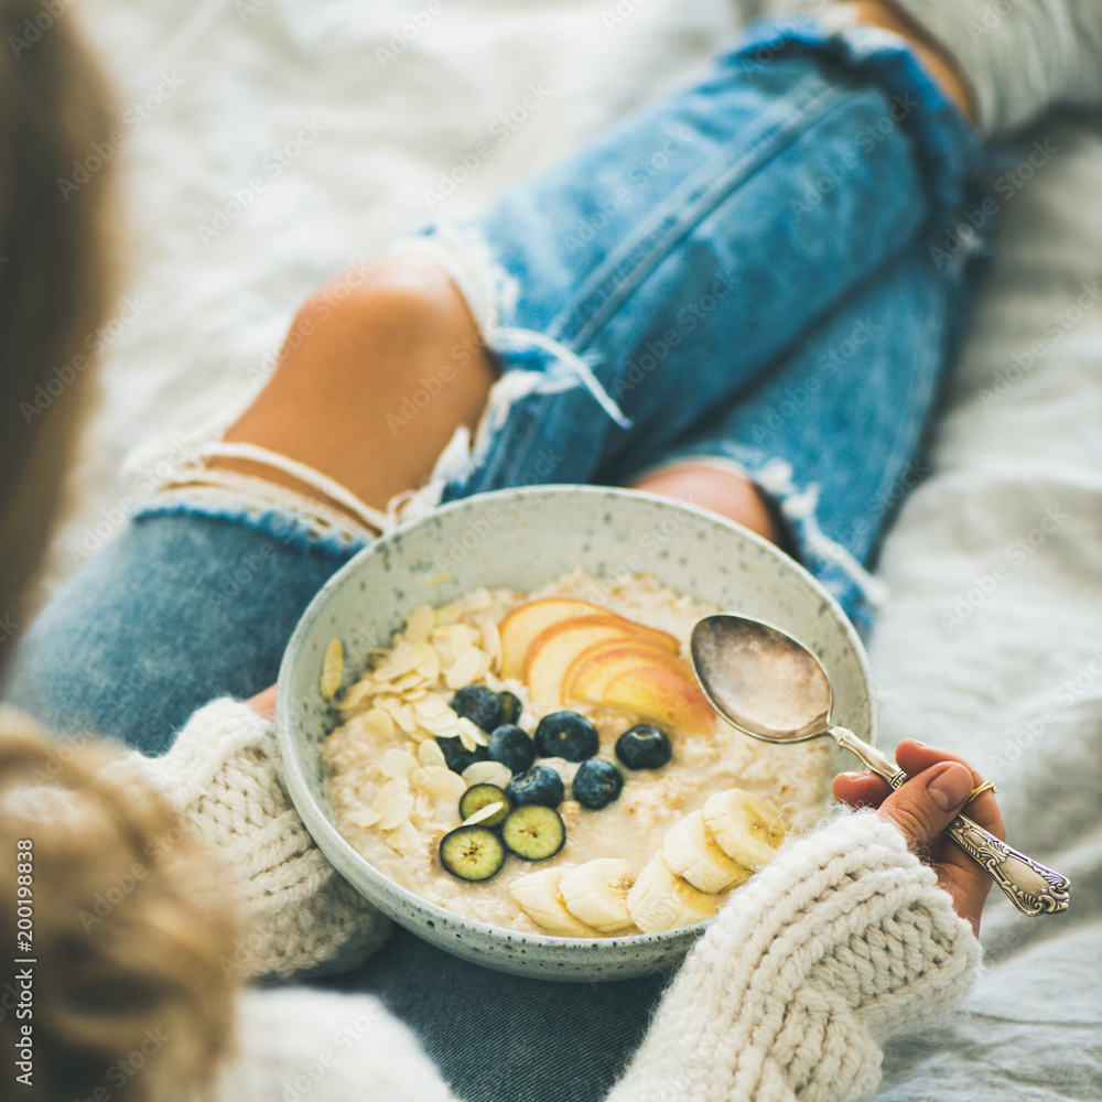
[[[1102,107],[1102,0],[894,0],[955,57],[980,129],[1019,129],[1056,104]]]

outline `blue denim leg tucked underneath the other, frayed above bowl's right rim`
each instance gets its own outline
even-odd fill
[[[885,593],[867,566],[925,473],[921,445],[960,332],[960,273],[916,250],[857,288],[763,380],[704,418],[645,471],[703,464],[754,482],[789,550],[862,630]]]

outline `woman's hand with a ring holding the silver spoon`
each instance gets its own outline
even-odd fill
[[[983,784],[983,778],[955,754],[911,738],[904,739],[896,748],[896,761],[910,780],[895,791],[871,773],[842,773],[834,778],[834,795],[852,808],[876,808],[894,822],[906,835],[910,849],[933,866],[941,886],[952,896],[957,914],[971,922],[979,934],[991,877],[941,832],[960,813],[972,789]],[[996,838],[1006,838],[992,792],[973,800],[968,814]]]

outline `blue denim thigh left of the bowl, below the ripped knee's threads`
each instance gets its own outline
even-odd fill
[[[299,617],[353,551],[222,517],[138,517],[20,640],[4,702],[58,735],[162,754],[202,704],[276,680]]]

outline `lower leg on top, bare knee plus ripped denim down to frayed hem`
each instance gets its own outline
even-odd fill
[[[454,284],[390,258],[399,271],[346,295],[339,326],[323,289],[227,439],[311,463],[376,507],[425,480],[487,395],[483,429],[508,413],[508,433],[480,433],[446,498],[585,482],[640,442],[665,446],[959,198],[970,137],[914,57],[814,40],[767,32],[484,217],[406,242],[407,268],[415,246]],[[508,378],[493,391],[496,369]]]

